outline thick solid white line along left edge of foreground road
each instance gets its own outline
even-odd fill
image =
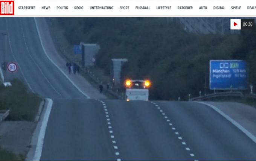
[[[44,144],[44,135],[46,132],[50,112],[52,111],[53,101],[52,101],[52,99],[47,99],[47,100],[48,100],[48,104],[47,104],[46,112],[44,114],[42,125],[40,127],[40,132],[39,132],[38,141],[37,141],[37,147],[35,149],[35,155],[33,158],[34,161],[40,161],[40,158],[42,155],[42,150],[43,150],[43,144]]]

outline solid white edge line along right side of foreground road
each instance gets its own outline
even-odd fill
[[[245,135],[247,135],[249,138],[251,138],[251,140],[253,140],[254,143],[256,143],[256,137],[251,134],[247,129],[245,129],[244,127],[242,127],[238,122],[236,122],[235,120],[233,120],[231,117],[229,117],[229,115],[225,114],[224,112],[222,112],[220,109],[218,109],[216,106],[210,105],[208,103],[205,102],[198,102],[198,101],[194,101],[197,103],[201,103],[204,105],[207,105],[209,107],[211,107],[212,109],[214,109],[216,112],[218,112],[219,114],[221,114],[223,117],[225,117],[227,120],[229,120],[233,125],[235,125],[238,129],[240,129],[242,132],[244,132]]]

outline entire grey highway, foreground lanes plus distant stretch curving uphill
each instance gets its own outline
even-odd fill
[[[67,74],[44,18],[0,18],[0,27],[10,36],[8,59],[21,67],[15,74],[53,101],[41,117],[35,158],[256,160],[253,140],[207,105],[103,99],[84,78]]]

